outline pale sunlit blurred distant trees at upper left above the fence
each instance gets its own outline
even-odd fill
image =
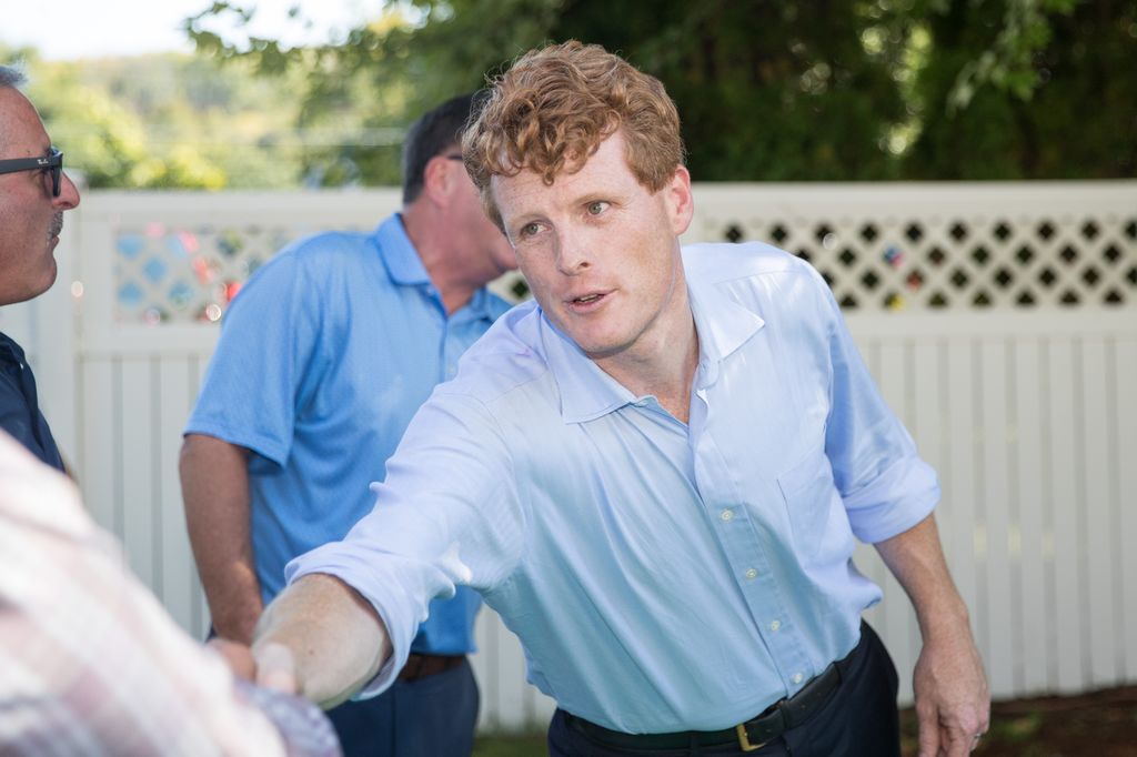
[[[0,49],[20,65],[67,166],[92,188],[289,186],[301,181],[289,78],[248,64],[218,69],[192,56],[50,63]],[[292,78],[296,78],[294,76]]]

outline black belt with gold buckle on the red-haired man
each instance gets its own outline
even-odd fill
[[[861,643],[844,659],[827,667],[796,694],[771,705],[764,713],[732,729],[722,731],[679,731],[675,733],[623,733],[565,713],[568,725],[596,743],[615,749],[688,749],[692,747],[721,747],[737,743],[742,751],[755,751],[773,741],[786,731],[805,723],[829,699],[829,696],[847,677],[856,654],[864,646],[862,629]]]

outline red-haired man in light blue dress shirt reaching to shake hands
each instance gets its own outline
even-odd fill
[[[249,654],[290,649],[316,701],[373,694],[430,600],[473,587],[557,701],[553,755],[898,755],[857,538],[915,607],[921,755],[971,751],[989,697],[935,472],[816,271],[680,247],[663,85],[598,47],[532,51],[463,144],[536,301],[422,407],[374,510],[289,565]]]

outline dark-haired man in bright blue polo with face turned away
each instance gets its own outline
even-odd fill
[[[514,267],[458,138],[473,98],[424,115],[404,145],[404,208],[371,234],[324,233],[275,256],[225,317],[186,425],[181,474],[218,635],[248,642],[284,565],[368,513],[368,483],[458,357],[507,305]],[[399,681],[330,712],[347,755],[470,754],[478,594],[430,608]],[[397,718],[397,723],[396,723]]]

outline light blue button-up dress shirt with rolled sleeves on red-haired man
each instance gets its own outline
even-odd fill
[[[395,655],[365,693],[455,585],[520,637],[541,691],[629,733],[730,727],[856,644],[881,592],[854,536],[922,521],[935,472],[813,268],[762,244],[683,261],[689,425],[518,306],[412,422],[372,514],[289,565],[340,576],[387,623]]]

